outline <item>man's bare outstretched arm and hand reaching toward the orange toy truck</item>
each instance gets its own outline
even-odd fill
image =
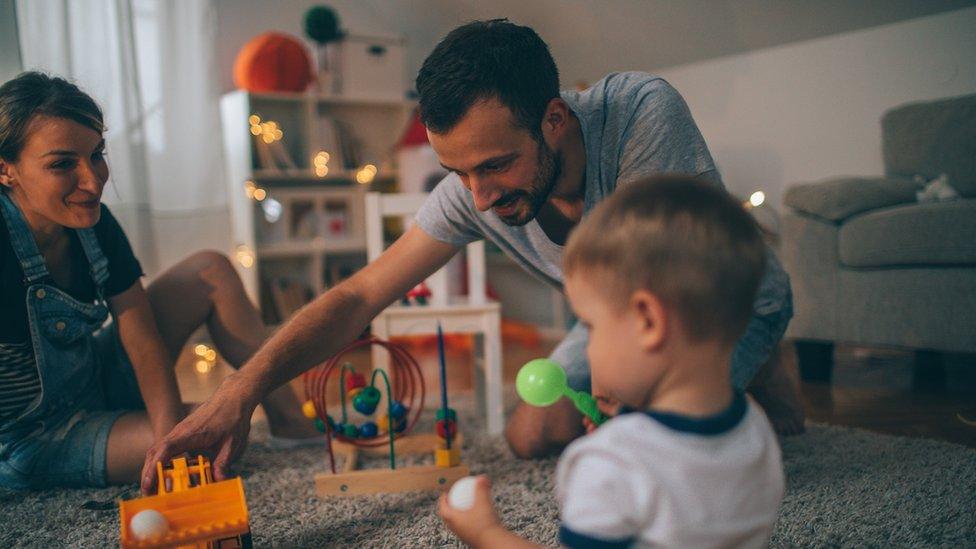
[[[225,478],[247,442],[251,414],[269,392],[339,352],[459,249],[414,225],[376,261],[303,307],[210,399],[149,449],[143,492],[155,487],[157,461],[184,452],[211,456],[215,476]]]

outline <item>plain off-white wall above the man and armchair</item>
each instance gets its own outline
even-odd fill
[[[233,89],[231,67],[248,39],[270,29],[301,37],[302,15],[318,3],[217,0],[221,88]],[[973,7],[831,34],[834,30],[827,21],[833,16],[839,18],[834,27],[846,19],[869,24],[886,9],[909,10],[903,15],[910,16],[911,10],[925,5],[894,2],[884,8],[852,2],[811,7],[759,1],[684,5],[643,0],[327,3],[339,12],[346,29],[407,38],[408,87],[430,49],[450,29],[470,19],[502,16],[533,26],[549,42],[564,87],[579,79],[592,82],[612,70],[661,74],[688,101],[730,190],[744,195],[762,188],[776,206],[791,183],[880,174],[879,121],[886,109],[907,101],[976,92]],[[943,9],[950,6],[941,4]],[[804,26],[795,21],[797,17],[818,23]],[[734,52],[785,39],[773,36],[776,33],[769,26],[790,28],[801,36],[825,36],[660,68],[668,59],[706,55],[715,49],[706,47],[713,43]],[[671,51],[681,44],[688,51]]]

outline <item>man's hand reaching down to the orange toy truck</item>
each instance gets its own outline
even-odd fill
[[[215,480],[228,476],[230,464],[243,452],[257,406],[245,386],[232,374],[217,391],[146,452],[142,467],[142,493],[156,488],[156,463],[183,454],[203,454],[212,460]]]

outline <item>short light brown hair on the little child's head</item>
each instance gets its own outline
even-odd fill
[[[563,254],[623,307],[637,290],[675,312],[689,339],[742,335],[765,267],[762,235],[741,204],[692,176],[629,183],[586,216]]]

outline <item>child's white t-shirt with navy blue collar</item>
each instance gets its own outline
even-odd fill
[[[619,415],[559,459],[568,547],[764,547],[783,498],[779,444],[736,393],[707,418]]]

